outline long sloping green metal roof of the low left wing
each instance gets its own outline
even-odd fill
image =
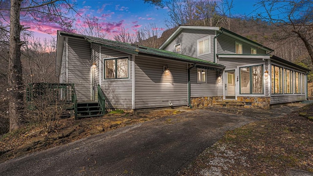
[[[202,59],[197,59],[194,57],[178,54],[178,53],[171,52],[171,51],[166,51],[163,49],[156,49],[156,48],[151,48],[151,47],[146,47],[146,46],[138,46],[135,44],[128,44],[128,43],[101,39],[97,37],[84,36],[80,34],[74,34],[74,33],[63,32],[63,31],[60,31],[60,34],[65,35],[65,36],[85,39],[92,44],[99,44],[104,47],[108,47],[108,48],[125,52],[128,54],[157,56],[157,57],[162,57],[165,59],[179,60],[179,61],[187,62],[191,64],[208,65],[208,66],[222,68],[222,69],[225,68],[225,66],[220,65],[220,64],[216,64],[216,63],[205,61]]]

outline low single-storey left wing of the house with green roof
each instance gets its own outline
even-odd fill
[[[197,69],[205,84],[191,91]],[[78,102],[97,101],[100,85],[109,109],[187,107],[192,94],[218,95],[223,70],[175,52],[58,31],[56,73],[75,85]]]

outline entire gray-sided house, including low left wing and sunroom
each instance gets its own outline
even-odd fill
[[[219,27],[179,26],[159,49],[58,31],[56,73],[78,102],[102,91],[108,109],[305,100],[309,70],[272,51]]]

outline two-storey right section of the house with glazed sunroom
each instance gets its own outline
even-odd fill
[[[222,27],[179,26],[159,49],[225,66],[222,80],[214,87],[223,105],[268,109],[308,96],[309,69],[273,56],[272,49]],[[194,86],[191,90],[199,84]],[[199,106],[203,97],[191,94],[191,99],[192,105]]]

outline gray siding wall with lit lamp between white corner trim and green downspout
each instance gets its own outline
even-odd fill
[[[165,75],[167,65],[170,74]],[[187,64],[144,57],[135,59],[135,108],[186,106]]]

